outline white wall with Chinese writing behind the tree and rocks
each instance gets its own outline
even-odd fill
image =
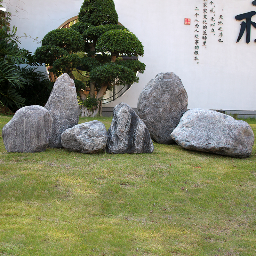
[[[18,27],[18,34],[25,32],[32,37],[44,35],[58,28],[65,20],[76,16],[82,0],[7,0],[12,23]],[[143,87],[159,72],[174,72],[180,76],[188,92],[188,108],[256,110],[256,83],[254,63],[256,60],[256,28],[251,26],[251,42],[246,44],[245,34],[236,43],[241,21],[235,16],[256,11],[252,0],[114,0],[119,22],[130,29],[144,45],[144,56],[140,61],[147,67],[140,74],[140,82],[122,97],[105,106],[126,102],[137,107],[137,100]],[[203,44],[203,9],[207,13],[207,24],[215,14],[215,35],[212,27],[206,29],[207,39]],[[16,5],[16,7],[14,7]],[[215,6],[215,7],[214,7]],[[6,6],[8,8],[8,4]],[[198,7],[199,11],[196,11]],[[211,13],[213,8],[215,13]],[[196,12],[199,22],[194,22]],[[223,17],[222,31],[218,31],[219,16]],[[190,18],[191,25],[184,19]],[[256,22],[256,15],[252,17]],[[199,24],[195,32],[195,25]],[[220,38],[220,32],[223,36]],[[199,36],[198,55],[195,55],[195,34]],[[222,39],[223,42],[218,42]],[[39,46],[32,39],[22,38],[22,47],[34,52]],[[195,61],[195,56],[198,60]],[[198,62],[198,63],[197,63]]]

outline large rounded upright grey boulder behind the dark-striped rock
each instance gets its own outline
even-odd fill
[[[188,106],[188,95],[179,76],[159,73],[140,93],[137,113],[146,124],[151,139],[162,144],[173,143],[173,129]]]

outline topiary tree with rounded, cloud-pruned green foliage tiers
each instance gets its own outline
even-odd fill
[[[64,37],[60,36],[64,33]],[[71,39],[67,40],[69,37]],[[77,47],[74,47],[75,44]],[[43,38],[42,46],[36,50],[35,57],[37,62],[52,66],[57,75],[66,72],[74,79],[72,68],[87,71],[90,95],[94,98],[96,90],[96,99],[101,99],[113,85],[138,82],[137,73],[145,70],[144,63],[124,61],[119,55],[143,54],[140,40],[127,28],[118,25],[113,0],[84,0],[78,22],[69,29],[49,32]]]

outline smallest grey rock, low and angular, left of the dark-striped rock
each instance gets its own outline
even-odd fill
[[[64,148],[81,153],[94,153],[104,149],[107,141],[107,129],[97,120],[77,124],[61,134],[61,144]]]

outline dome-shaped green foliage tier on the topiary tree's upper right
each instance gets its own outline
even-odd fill
[[[140,40],[127,30],[109,30],[97,41],[96,51],[111,52],[112,54],[123,54],[128,56],[143,56],[144,49]]]

